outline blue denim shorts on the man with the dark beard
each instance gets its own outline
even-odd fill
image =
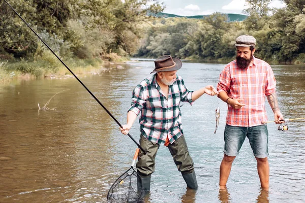
[[[224,153],[228,156],[237,156],[246,137],[249,139],[255,157],[265,158],[268,156],[268,129],[266,124],[253,127],[239,127],[226,124]]]

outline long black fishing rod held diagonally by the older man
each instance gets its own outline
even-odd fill
[[[68,65],[66,65],[66,63],[59,58],[59,56],[57,56],[57,54],[49,47],[49,45],[47,45],[47,43],[45,43],[41,37],[39,37],[39,35],[36,33],[36,31],[27,24],[27,22],[17,13],[17,11],[6,1],[3,0],[18,16],[19,18],[35,33],[35,35],[43,42],[44,45],[46,45],[46,47],[56,56],[56,58],[62,62],[65,67],[68,69],[68,71],[78,80],[78,82],[89,92],[89,94],[91,94],[91,96],[93,96],[93,98],[103,107],[103,109],[109,114],[109,116],[119,125],[119,127],[123,128],[123,126],[116,120],[116,118],[106,109],[106,107],[101,103],[101,101],[80,81],[80,79],[78,79],[78,77],[69,69]],[[135,141],[135,139],[128,133],[127,134],[131,140],[146,154],[146,152],[144,151],[144,149],[137,143],[137,141]]]

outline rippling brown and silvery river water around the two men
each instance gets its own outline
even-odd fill
[[[153,61],[129,62],[124,70],[79,76],[102,104],[125,124],[133,88],[153,70]],[[224,64],[187,63],[178,74],[191,90],[217,85]],[[305,67],[272,66],[281,111],[305,117]],[[57,92],[47,107],[39,111]],[[217,133],[215,109],[221,116]],[[266,101],[268,120],[274,120]],[[203,95],[181,107],[199,189],[186,184],[168,149],[161,146],[147,202],[304,202],[305,122],[289,131],[268,124],[270,190],[260,191],[248,140],[233,162],[228,191],[219,191],[227,106]],[[0,202],[106,202],[116,178],[130,168],[136,145],[74,78],[16,81],[0,86]],[[130,133],[139,139],[139,124]]]

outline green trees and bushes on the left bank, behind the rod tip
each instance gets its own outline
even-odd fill
[[[115,52],[136,52],[141,22],[163,10],[154,0],[11,0],[12,7],[49,39],[55,52],[80,58]],[[37,37],[9,6],[0,3],[0,57],[31,58],[37,54]],[[91,46],[94,45],[94,49]],[[58,50],[60,48],[61,50]]]

